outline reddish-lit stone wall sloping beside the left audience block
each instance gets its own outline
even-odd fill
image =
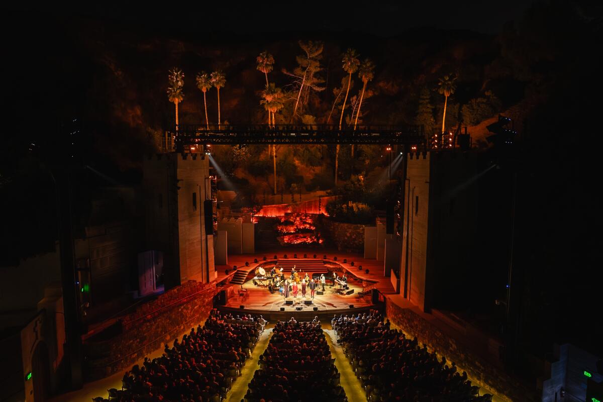
[[[103,339],[101,333],[90,339],[84,344],[87,380],[129,368],[188,328],[203,325],[216,292],[215,282],[189,281],[125,316],[122,333],[106,337],[110,339]]]

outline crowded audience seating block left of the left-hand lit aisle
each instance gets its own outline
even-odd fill
[[[145,357],[142,366],[125,372],[122,389],[108,390],[109,400],[219,402],[241,375],[265,324],[261,316],[222,316],[214,309],[203,328],[191,328],[172,347],[166,344],[161,357]]]

